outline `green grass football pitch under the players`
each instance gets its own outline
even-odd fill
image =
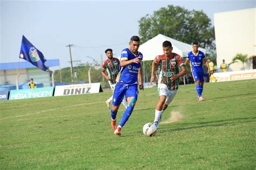
[[[152,122],[157,88],[139,92],[118,137],[104,100],[111,91],[0,102],[1,169],[255,169],[256,80],[205,84],[199,102],[194,84],[180,86],[163,115]],[[118,122],[123,115],[120,106]]]

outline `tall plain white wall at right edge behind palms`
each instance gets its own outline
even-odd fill
[[[214,13],[217,66],[230,63],[237,53],[256,55],[256,8]],[[230,65],[229,71],[242,70],[242,63]],[[252,61],[245,63],[252,69]]]

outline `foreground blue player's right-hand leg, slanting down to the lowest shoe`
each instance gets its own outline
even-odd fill
[[[129,117],[131,116],[133,108],[136,104],[137,97],[138,97],[137,84],[132,84],[127,86],[125,97],[127,98],[127,108],[124,111],[123,117],[117,127],[117,130],[114,131],[114,133],[118,135],[121,135],[120,131],[125,125],[125,123],[128,121]]]

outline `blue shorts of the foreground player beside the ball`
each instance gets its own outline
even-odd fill
[[[138,98],[138,85],[137,84],[122,84],[122,83],[116,83],[116,86],[114,87],[113,92],[113,105],[120,105],[123,101],[124,95],[125,97],[135,97],[136,100]]]

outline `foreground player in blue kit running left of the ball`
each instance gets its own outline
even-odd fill
[[[132,114],[133,108],[138,98],[139,89],[144,89],[142,79],[142,61],[143,55],[138,51],[139,37],[132,36],[129,42],[129,48],[123,49],[120,58],[120,70],[117,75],[117,83],[113,91],[113,101],[111,108],[112,129],[114,134],[121,135],[121,129],[128,121]],[[139,81],[139,82],[138,82]],[[123,117],[116,128],[117,111],[124,96],[127,100],[127,108],[123,113]]]

